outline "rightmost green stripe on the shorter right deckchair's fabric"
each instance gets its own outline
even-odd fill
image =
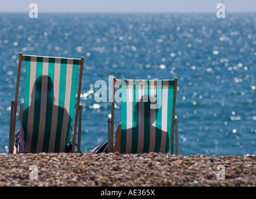
[[[172,138],[172,111],[174,107],[174,80],[169,81],[169,90],[168,90],[168,111],[167,111],[167,139],[166,139],[166,148],[165,153],[170,153],[170,141]]]

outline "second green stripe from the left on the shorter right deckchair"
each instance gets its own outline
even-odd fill
[[[133,85],[133,101],[132,101],[132,154],[137,153],[138,137],[139,137],[139,81],[135,80]]]

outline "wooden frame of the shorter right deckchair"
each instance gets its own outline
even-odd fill
[[[176,94],[177,94],[177,80],[174,78],[174,103],[172,109],[172,132],[171,132],[171,149],[170,154],[174,154],[174,131],[175,131],[175,153],[179,155],[179,137],[178,137],[178,118],[175,116],[175,106],[176,106]],[[114,106],[115,106],[115,85],[117,82],[121,82],[121,79],[116,80],[113,77],[112,82],[112,105],[111,105],[111,118],[108,119],[108,142],[109,142],[109,152],[114,152]]]

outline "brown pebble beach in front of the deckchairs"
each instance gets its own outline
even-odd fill
[[[0,186],[254,187],[255,163],[255,155],[2,153]]]

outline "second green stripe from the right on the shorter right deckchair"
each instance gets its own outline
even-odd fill
[[[159,82],[161,82],[159,84]],[[162,80],[157,80],[157,104],[158,109],[155,109],[155,152],[160,151],[160,142],[162,137]]]

